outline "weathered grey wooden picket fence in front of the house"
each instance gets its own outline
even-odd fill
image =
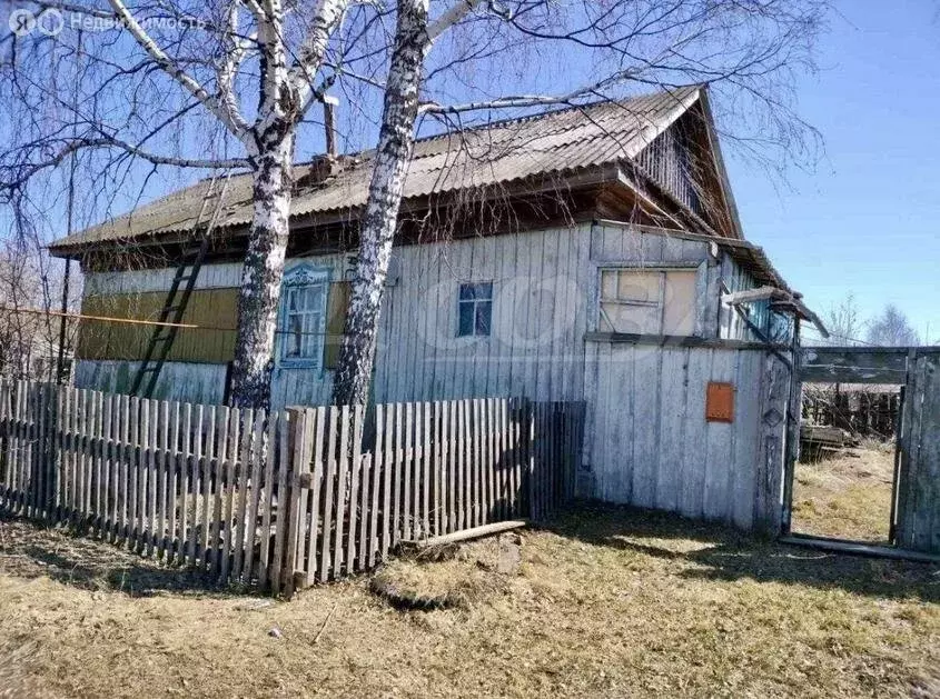
[[[573,496],[582,403],[392,403],[366,417],[0,382],[0,507],[289,593],[368,570],[399,541],[538,520]]]

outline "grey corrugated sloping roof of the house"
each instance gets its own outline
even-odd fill
[[[685,112],[699,94],[699,87],[685,87],[420,139],[415,143],[408,163],[404,197],[410,199],[531,177],[564,174],[633,158]],[[301,184],[291,201],[290,216],[335,213],[364,206],[373,153],[366,151],[345,158],[335,177]],[[295,178],[303,182],[313,167],[297,166]],[[58,240],[51,248],[67,252],[68,248],[185,232],[195,224],[209,184],[208,179],[197,182]],[[249,174],[234,176],[218,223],[238,227],[250,221],[251,178]]]

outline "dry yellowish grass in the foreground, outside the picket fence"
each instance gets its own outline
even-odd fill
[[[493,540],[389,567],[471,592],[432,612],[364,579],[291,602],[184,592],[105,545],[20,521],[0,535],[0,649],[21,649],[0,677],[49,696],[940,696],[936,567],[666,515],[568,513],[522,535],[508,575]]]

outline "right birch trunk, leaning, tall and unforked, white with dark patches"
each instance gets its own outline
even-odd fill
[[[334,379],[336,405],[364,405],[368,400],[388,260],[415,142],[422,64],[429,44],[427,10],[428,0],[398,1],[395,50],[388,69],[369,197],[359,230],[356,279]]]

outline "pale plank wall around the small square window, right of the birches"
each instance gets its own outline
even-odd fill
[[[578,400],[586,227],[402,249],[383,311],[376,400]],[[457,338],[461,282],[493,282],[489,337]]]

